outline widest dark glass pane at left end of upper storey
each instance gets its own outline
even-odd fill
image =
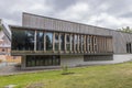
[[[12,31],[13,51],[34,51],[34,31],[13,30]]]

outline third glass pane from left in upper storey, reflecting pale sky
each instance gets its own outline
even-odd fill
[[[53,50],[53,33],[45,33],[46,35],[46,51]]]

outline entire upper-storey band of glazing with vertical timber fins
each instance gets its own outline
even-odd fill
[[[12,30],[12,51],[64,51],[61,53],[112,53],[112,37],[35,30]],[[54,43],[53,43],[54,41]],[[54,45],[54,46],[53,46]],[[129,44],[127,44],[128,51]]]

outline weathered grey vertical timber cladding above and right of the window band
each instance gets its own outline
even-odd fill
[[[112,31],[103,28],[97,28],[97,26],[69,22],[69,21],[45,18],[45,16],[40,16],[40,15],[34,15],[29,13],[23,13],[22,21],[23,21],[23,26],[28,26],[28,28],[112,36],[113,40],[111,41],[97,37],[98,40],[100,40],[100,41],[97,41],[98,44],[100,45],[98,45],[98,47],[96,47],[96,45],[92,45],[92,46],[89,45],[90,48],[87,47],[87,50],[88,48],[92,50],[92,52],[95,48],[97,48],[99,52],[102,52],[103,50],[106,50],[107,52],[111,52],[113,50],[113,53],[127,53],[127,42],[132,42],[132,34]],[[89,37],[92,37],[92,36],[89,36]],[[102,42],[106,42],[103,46],[101,45]],[[109,43],[112,46],[108,45]]]

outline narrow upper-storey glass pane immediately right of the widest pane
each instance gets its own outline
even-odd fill
[[[36,51],[44,51],[44,32],[36,33]]]

